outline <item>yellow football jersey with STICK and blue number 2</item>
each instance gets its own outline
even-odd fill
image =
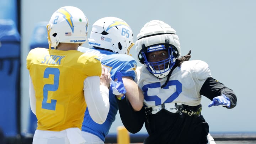
[[[37,129],[81,129],[84,80],[101,75],[98,57],[77,50],[35,48],[27,56],[27,69],[36,95]]]

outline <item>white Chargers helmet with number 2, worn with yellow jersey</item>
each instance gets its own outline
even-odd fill
[[[55,11],[47,25],[49,48],[59,43],[87,42],[88,19],[80,9],[65,6]]]

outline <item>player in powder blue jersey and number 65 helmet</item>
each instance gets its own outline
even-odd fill
[[[110,111],[106,121],[103,124],[95,123],[86,109],[82,123],[82,136],[86,139],[86,144],[104,144],[118,111],[117,101],[127,98],[133,110],[139,111],[143,107],[143,93],[136,83],[137,63],[128,55],[134,43],[133,32],[125,21],[116,17],[97,20],[92,25],[89,45],[92,48],[79,47],[78,50],[97,55],[101,64],[110,71],[112,80],[117,81],[112,81],[112,85],[117,84],[113,90],[110,87]],[[123,92],[118,89],[119,81],[125,87]],[[123,86],[119,87],[122,89]]]

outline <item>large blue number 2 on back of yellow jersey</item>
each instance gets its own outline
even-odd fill
[[[47,99],[48,99],[48,91],[56,91],[59,88],[59,74],[60,74],[59,69],[46,68],[46,70],[44,70],[44,78],[49,79],[50,74],[54,75],[53,84],[45,84],[43,87],[42,108],[55,111],[57,100],[51,99],[51,102],[47,103]]]

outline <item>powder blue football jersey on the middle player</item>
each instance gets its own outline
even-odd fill
[[[137,62],[127,54],[114,54],[113,52],[95,49],[79,47],[79,51],[85,53],[93,53],[100,58],[101,64],[105,66],[111,74],[112,80],[117,79],[116,72],[121,71],[122,76],[129,76],[133,80],[137,80],[135,69],[137,68]],[[108,134],[108,131],[116,119],[118,111],[118,105],[116,102],[116,96],[112,94],[112,90],[109,92],[110,110],[106,121],[103,124],[95,123],[90,117],[89,111],[86,109],[84,122],[82,123],[82,131],[97,135],[103,142]]]

